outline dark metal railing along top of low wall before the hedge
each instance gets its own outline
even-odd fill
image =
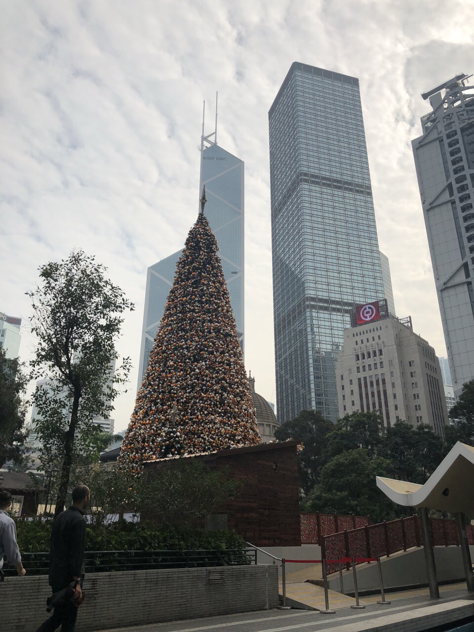
[[[23,553],[21,561],[28,575],[44,575],[49,570],[49,553]],[[86,551],[85,572],[144,571],[161,568],[203,568],[206,566],[248,566],[257,564],[255,549],[196,549],[156,551]],[[13,567],[3,568],[15,576]]]

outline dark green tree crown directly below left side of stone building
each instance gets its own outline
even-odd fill
[[[368,458],[375,458],[382,443],[382,420],[379,413],[360,413],[344,415],[338,419],[333,432],[328,437],[327,456],[362,448]]]

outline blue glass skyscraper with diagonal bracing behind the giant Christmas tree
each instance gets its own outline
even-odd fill
[[[211,135],[212,136],[212,135]],[[205,215],[219,245],[240,344],[244,345],[244,163],[203,137],[199,191],[205,185]],[[204,145],[204,140],[210,143]],[[200,193],[199,193],[200,195]],[[199,197],[199,196],[197,196]],[[197,212],[197,211],[196,211]],[[142,386],[150,351],[173,285],[181,250],[148,269],[137,390]]]

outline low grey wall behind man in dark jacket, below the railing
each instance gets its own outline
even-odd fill
[[[212,574],[222,581],[212,581]],[[211,577],[211,578],[210,578]],[[86,577],[76,632],[265,610],[278,605],[274,566],[219,566]],[[32,632],[49,616],[46,576],[6,578],[0,585],[1,632]]]

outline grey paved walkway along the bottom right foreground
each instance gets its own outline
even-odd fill
[[[370,599],[365,598],[365,601]],[[367,603],[363,611],[346,607],[333,615],[304,610],[270,610],[117,628],[107,632],[325,632],[331,629],[337,629],[337,632],[421,632],[427,627],[474,616],[474,595],[468,593],[465,586],[462,590],[444,586],[439,601],[431,601],[424,594],[407,598],[401,593],[391,593],[389,599],[391,605]]]

